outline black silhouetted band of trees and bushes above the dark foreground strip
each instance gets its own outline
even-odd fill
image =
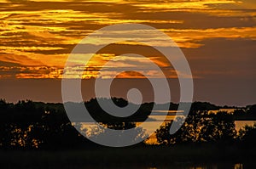
[[[103,99],[103,101],[108,102],[109,99]],[[128,104],[125,99],[118,98],[113,98],[113,102],[120,107]],[[154,103],[142,104],[134,115],[117,118],[104,112],[96,99],[91,99],[84,104],[96,121],[116,129],[135,127],[136,121],[144,121],[148,118],[154,106]],[[160,104],[158,106],[161,107]],[[170,110],[177,110],[177,107],[178,104],[170,104]],[[193,103],[183,127],[174,135],[170,135],[169,128],[172,121],[166,123],[166,126],[160,127],[156,132],[158,142],[166,145],[239,144],[241,146],[255,143],[256,126],[246,127],[236,132],[234,120],[241,119],[241,117],[255,118],[256,105],[239,108],[234,115],[225,112],[217,115],[208,114],[208,110],[221,108],[227,107],[206,102]],[[73,149],[96,146],[81,136],[72,126],[63,104],[32,102],[31,100],[12,104],[1,99],[0,115],[0,149]],[[177,119],[176,122],[181,120]],[[143,131],[138,130],[138,132]]]

